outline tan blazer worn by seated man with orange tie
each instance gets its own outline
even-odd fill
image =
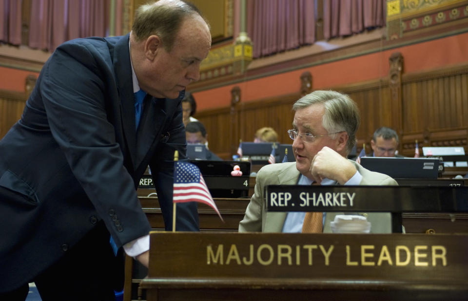
[[[359,185],[398,185],[388,175],[370,171],[355,161],[349,160],[362,175]],[[287,212],[266,212],[264,191],[268,185],[296,185],[299,171],[295,162],[271,164],[262,167],[256,177],[255,192],[247,206],[244,219],[239,223],[239,232],[282,232]],[[327,212],[323,232],[331,233],[330,222],[337,214],[344,212]],[[348,213],[349,214],[349,213]],[[359,212],[367,216],[371,223],[370,233],[391,233],[391,214],[385,212]]]

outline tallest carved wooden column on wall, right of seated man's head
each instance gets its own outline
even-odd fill
[[[402,137],[403,133],[403,104],[401,97],[401,74],[403,72],[403,56],[399,52],[393,53],[390,63],[390,108],[391,127]]]

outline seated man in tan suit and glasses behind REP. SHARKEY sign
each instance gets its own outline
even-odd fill
[[[288,132],[296,162],[270,164],[258,171],[239,232],[301,232],[305,212],[266,212],[263,194],[268,185],[397,185],[389,176],[346,159],[360,122],[358,108],[348,95],[314,91],[297,100],[292,109],[293,129]],[[330,222],[337,214],[346,213],[324,213],[323,232],[331,232]],[[371,223],[371,233],[391,233],[390,213],[359,214]]]

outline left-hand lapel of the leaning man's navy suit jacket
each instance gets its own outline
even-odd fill
[[[137,161],[137,134],[135,132],[135,99],[133,94],[132,65],[130,64],[129,35],[121,38],[115,48],[114,71],[120,97],[120,114],[125,142],[130,152],[133,168]]]

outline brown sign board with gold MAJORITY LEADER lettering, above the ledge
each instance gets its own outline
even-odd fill
[[[151,278],[466,281],[468,235],[152,232]]]

